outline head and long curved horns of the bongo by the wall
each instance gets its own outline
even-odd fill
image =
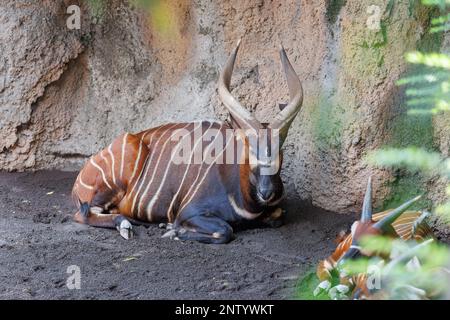
[[[283,194],[280,178],[281,147],[301,108],[303,90],[300,79],[280,45],[281,64],[287,79],[290,102],[280,107],[280,112],[270,123],[259,122],[230,92],[231,75],[239,45],[240,40],[220,75],[219,97],[231,116],[231,126],[240,132],[241,139],[246,142],[245,158],[249,164],[250,194],[260,205],[271,205],[281,199]]]

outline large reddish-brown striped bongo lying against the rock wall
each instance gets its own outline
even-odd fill
[[[131,223],[167,222],[172,238],[226,243],[238,222],[280,221],[281,146],[302,105],[302,86],[280,47],[290,102],[270,124],[260,123],[230,93],[239,44],[218,84],[230,123],[171,123],[119,136],[76,179],[77,222],[117,228],[124,238],[132,235]],[[185,142],[193,146],[184,155],[188,161],[176,163]],[[197,150],[200,160],[194,161]]]

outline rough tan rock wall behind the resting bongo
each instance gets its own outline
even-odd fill
[[[81,7],[80,30],[66,27],[71,4]],[[373,5],[377,30],[367,25]],[[4,0],[0,168],[77,169],[124,131],[225,119],[216,81],[242,37],[233,93],[260,120],[288,99],[280,41],[303,79],[285,182],[314,205],[351,212],[373,174],[384,199],[377,206],[393,205],[402,199],[391,195],[408,197],[427,182],[375,170],[367,152],[415,144],[449,153],[450,120],[406,116],[395,85],[408,69],[406,52],[442,47],[427,33],[432,15],[417,1]]]

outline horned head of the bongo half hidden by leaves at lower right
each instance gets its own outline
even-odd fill
[[[392,210],[380,220],[374,221],[372,219],[372,178],[369,177],[366,194],[364,196],[361,218],[360,220],[354,222],[351,228],[352,244],[350,248],[342,255],[339,263],[343,263],[348,259],[357,258],[362,254],[358,243],[362,237],[369,235],[398,236],[392,226],[392,223],[394,223],[413,203],[420,198],[421,196],[417,196]]]

